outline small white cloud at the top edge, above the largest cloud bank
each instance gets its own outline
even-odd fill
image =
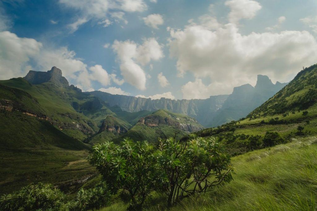
[[[260,3],[253,0],[229,0],[225,5],[230,7],[229,22],[237,23],[241,19],[252,19],[262,8]]]

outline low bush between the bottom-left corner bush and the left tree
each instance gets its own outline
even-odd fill
[[[109,204],[111,199],[110,191],[105,182],[100,182],[94,188],[80,189],[74,201],[67,204],[69,211],[83,211],[100,209]]]

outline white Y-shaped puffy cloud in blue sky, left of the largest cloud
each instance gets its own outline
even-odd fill
[[[163,57],[162,47],[156,39],[146,39],[142,44],[130,40],[115,40],[112,48],[117,54],[118,61],[120,61],[123,79],[138,89],[145,90],[146,74],[141,66],[147,65],[151,60],[159,60]]]

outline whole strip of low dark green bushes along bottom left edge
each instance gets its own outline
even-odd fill
[[[3,211],[82,211],[104,207],[109,204],[110,199],[110,192],[104,182],[100,182],[94,188],[80,189],[76,198],[71,201],[53,185],[40,182],[25,186],[13,194],[1,196],[0,208]]]

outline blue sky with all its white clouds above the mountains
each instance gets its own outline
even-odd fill
[[[0,0],[0,80],[56,66],[83,91],[206,99],[317,63],[315,0]]]

